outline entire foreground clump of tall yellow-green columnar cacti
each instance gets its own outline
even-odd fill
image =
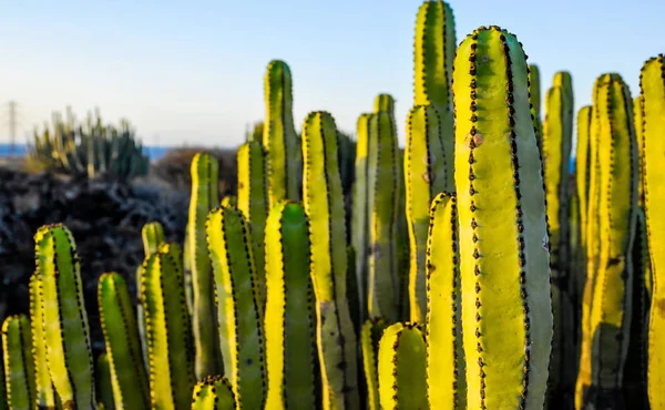
[[[541,121],[512,33],[454,35],[426,1],[403,152],[388,94],[355,142],[323,111],[298,135],[290,69],[270,62],[237,196],[194,157],[184,248],[143,227],[136,311],[122,276],[100,278],[96,360],[74,239],[40,228],[30,317],[2,328],[0,409],[665,407],[663,57],[635,102],[598,76],[570,175],[571,74]]]

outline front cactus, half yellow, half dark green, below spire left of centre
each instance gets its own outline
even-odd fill
[[[303,205],[286,202],[270,211],[266,225],[269,409],[317,407],[316,314],[307,225]]]

